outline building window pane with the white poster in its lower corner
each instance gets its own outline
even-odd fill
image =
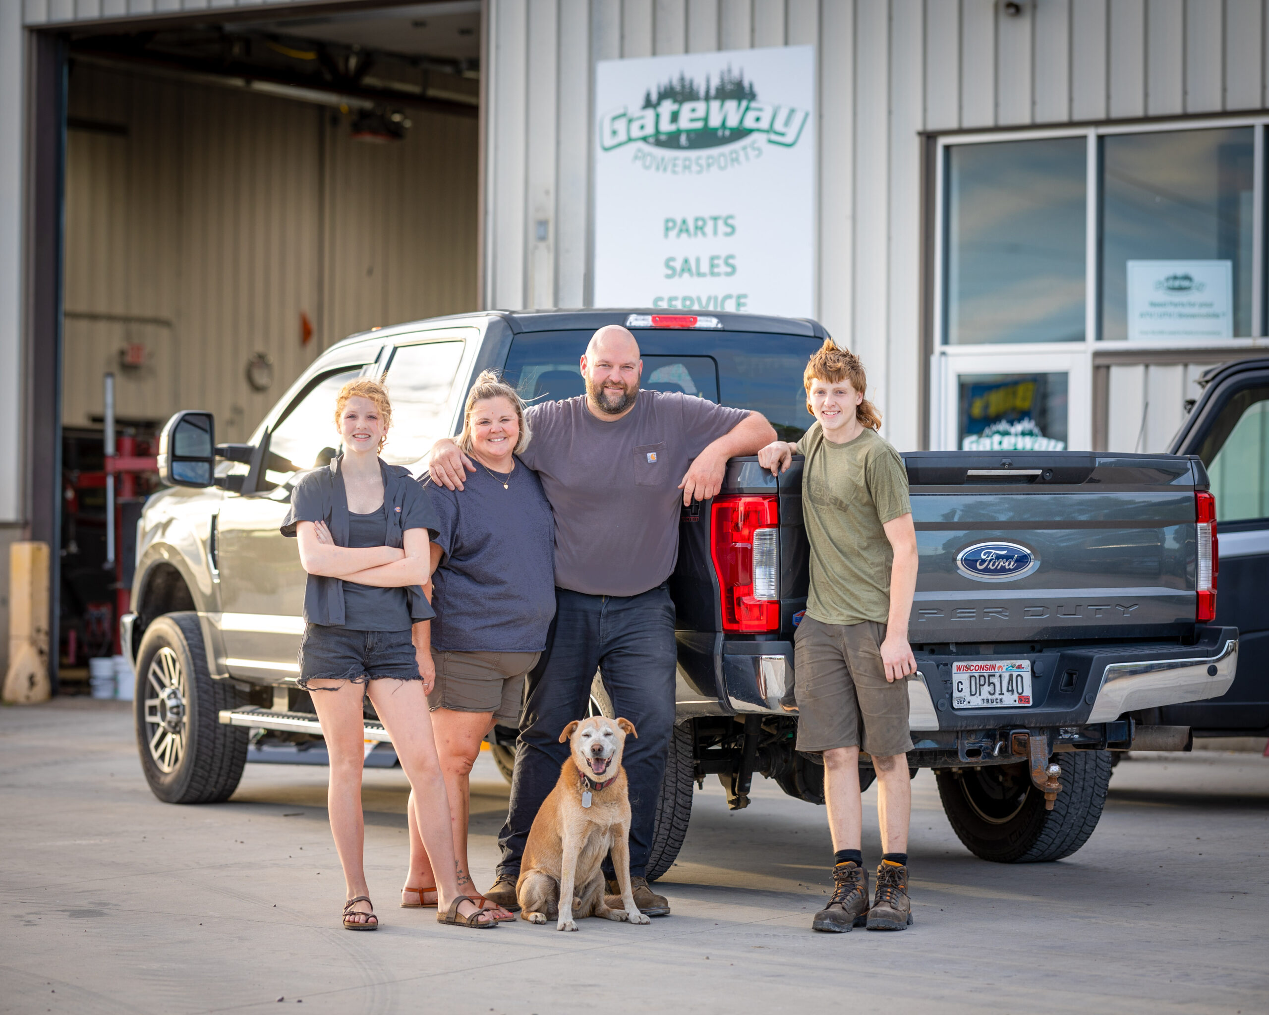
[[[1254,334],[1251,127],[1101,141],[1101,339]]]

